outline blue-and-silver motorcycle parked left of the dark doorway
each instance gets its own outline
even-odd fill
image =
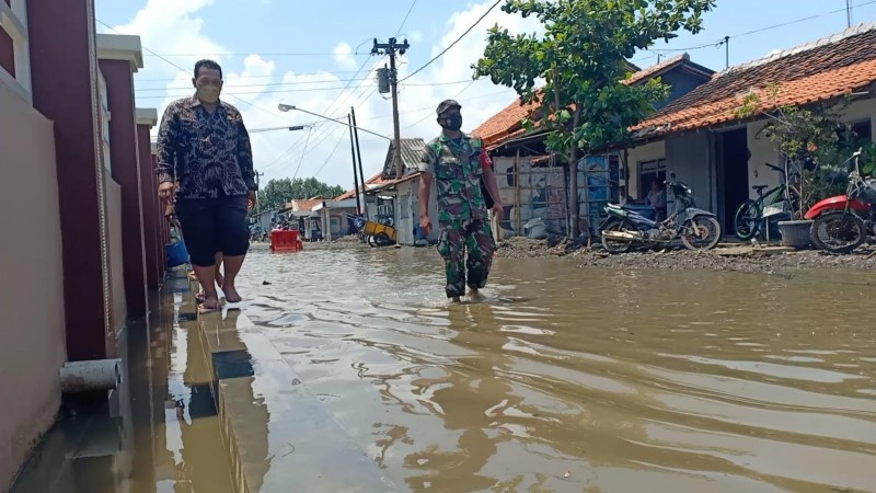
[[[721,241],[721,223],[708,210],[696,208],[693,191],[670,173],[665,182],[676,197],[676,211],[657,222],[648,214],[653,207],[609,204],[599,226],[602,246],[609,253],[624,253],[633,246],[670,244],[677,239],[690,250],[710,250]],[[650,210],[648,210],[650,209]],[[650,216],[650,217],[646,217]]]

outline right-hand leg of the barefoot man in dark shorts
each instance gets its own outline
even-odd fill
[[[246,228],[246,196],[224,197],[220,200],[218,217],[219,246],[222,252],[224,276],[222,291],[226,300],[237,303],[241,300],[234,280],[238,277],[246,251],[250,249],[250,232]]]

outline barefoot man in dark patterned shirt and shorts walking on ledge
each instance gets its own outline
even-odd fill
[[[196,93],[168,105],[158,134],[159,195],[176,197],[186,248],[204,287],[199,311],[218,309],[216,254],[223,254],[222,291],[241,300],[234,280],[250,248],[246,209],[256,190],[250,137],[240,112],[220,101],[222,68],[212,60],[195,64]],[[178,186],[174,183],[178,180]]]

